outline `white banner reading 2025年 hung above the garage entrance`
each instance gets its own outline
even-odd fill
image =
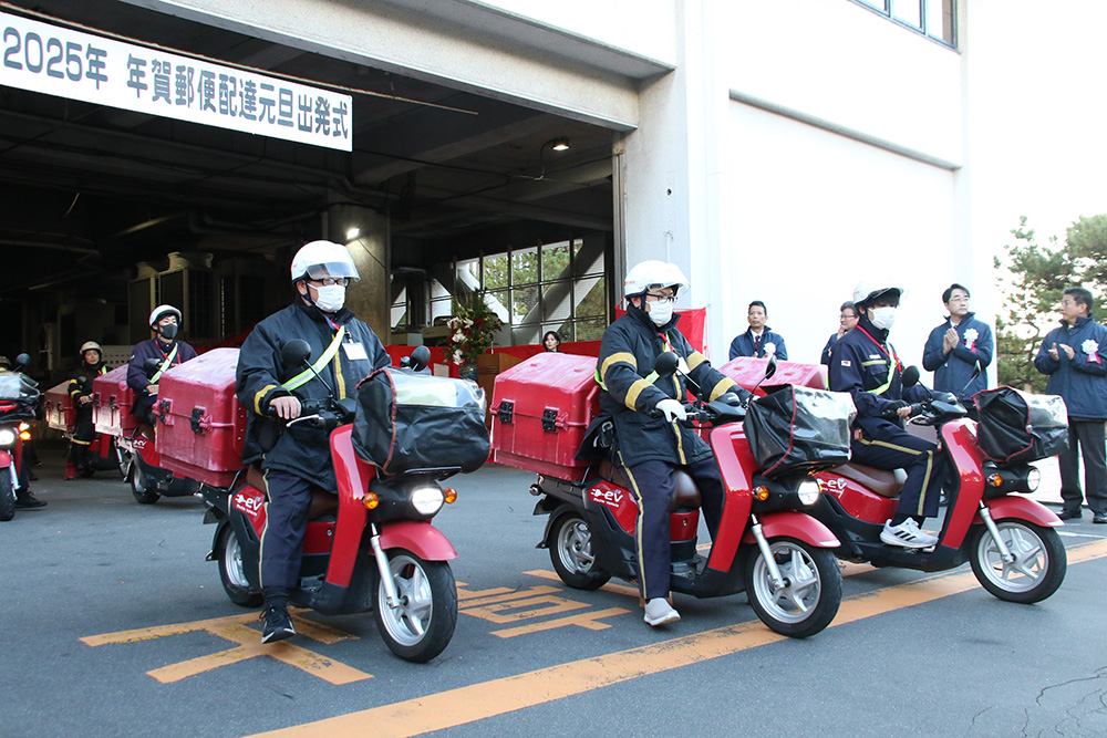
[[[352,98],[0,13],[0,85],[349,152]]]

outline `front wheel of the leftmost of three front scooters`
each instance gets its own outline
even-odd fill
[[[376,627],[395,655],[428,662],[446,647],[457,624],[454,574],[445,561],[424,561],[404,549],[387,557],[399,602],[390,606],[384,584],[377,582]]]

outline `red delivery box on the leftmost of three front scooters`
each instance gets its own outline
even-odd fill
[[[246,410],[235,396],[238,349],[213,349],[165,372],[157,383],[162,466],[213,487],[242,469]]]

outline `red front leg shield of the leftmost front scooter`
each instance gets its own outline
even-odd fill
[[[352,425],[344,425],[331,433],[331,458],[334,459],[334,476],[339,482],[341,524],[334,528],[334,544],[327,568],[327,581],[339,586],[350,586],[353,576],[358,547],[361,545],[361,534],[365,530],[365,518],[369,516],[362,499],[369,489],[369,482],[375,476],[375,468],[354,453],[350,437],[352,433]]]

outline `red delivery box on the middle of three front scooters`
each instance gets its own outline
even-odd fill
[[[600,412],[596,357],[544,353],[496,376],[492,447],[497,464],[560,478],[581,476],[576,458]]]

